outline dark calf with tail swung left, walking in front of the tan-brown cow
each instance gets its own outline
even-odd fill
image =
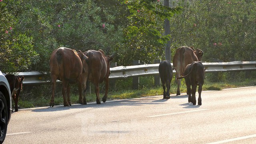
[[[192,62],[186,66],[184,75],[177,79],[185,78],[188,94],[188,102],[192,102],[196,105],[196,87],[198,86],[198,105],[202,105],[202,86],[204,84],[204,65],[202,62]],[[191,86],[192,86],[192,97],[191,97]]]

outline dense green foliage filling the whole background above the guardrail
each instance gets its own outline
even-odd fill
[[[255,0],[0,0],[2,72],[49,71],[53,50],[102,49],[118,65],[164,59],[180,46],[203,60],[256,60]],[[164,36],[164,19],[170,35]]]

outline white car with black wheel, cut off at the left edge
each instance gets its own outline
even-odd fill
[[[4,142],[7,125],[12,114],[12,97],[10,85],[0,71],[0,144]]]

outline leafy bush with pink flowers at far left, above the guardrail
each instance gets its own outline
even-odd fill
[[[17,13],[20,1],[0,1],[0,68],[2,72],[28,71],[40,58],[33,38],[18,32]]]

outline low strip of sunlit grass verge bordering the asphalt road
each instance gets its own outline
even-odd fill
[[[142,81],[143,82],[143,81]],[[146,83],[146,82],[144,82]],[[153,84],[149,84],[153,85]],[[207,79],[203,85],[203,91],[206,90],[222,90],[224,88],[237,88],[237,87],[244,87],[244,86],[256,86],[255,79],[245,79],[245,80],[238,80],[237,82],[233,81],[226,81],[226,82],[209,82]],[[40,86],[42,88],[43,86]],[[48,90],[38,90],[38,88],[34,88],[34,90],[30,90],[28,94],[22,94],[20,96],[20,100],[18,102],[19,108],[34,108],[34,107],[42,107],[42,106],[49,106],[50,102],[50,95],[51,90],[49,90],[50,86],[45,86]],[[108,92],[108,100],[118,100],[118,99],[129,99],[129,98],[141,98],[145,96],[158,96],[162,95],[163,90],[162,86],[157,87],[149,87],[149,86],[140,86],[139,90],[129,90],[126,88],[125,90],[120,90],[122,88],[118,88],[119,90],[109,90]],[[44,89],[44,88],[42,88]],[[176,94],[177,85],[175,82],[172,82],[170,93]],[[94,90],[92,87],[92,92],[88,93],[86,96],[87,102],[96,102],[96,95],[94,94]],[[180,87],[181,93],[186,93],[186,85],[184,80],[182,80],[182,85]],[[34,96],[27,96],[27,95],[34,95]],[[101,89],[100,98],[104,95],[104,88]],[[63,97],[61,94],[61,86],[56,90],[55,96],[55,106],[63,105]],[[72,104],[78,103],[78,91],[73,90],[71,94],[71,102]],[[12,105],[14,107],[14,103]]]

